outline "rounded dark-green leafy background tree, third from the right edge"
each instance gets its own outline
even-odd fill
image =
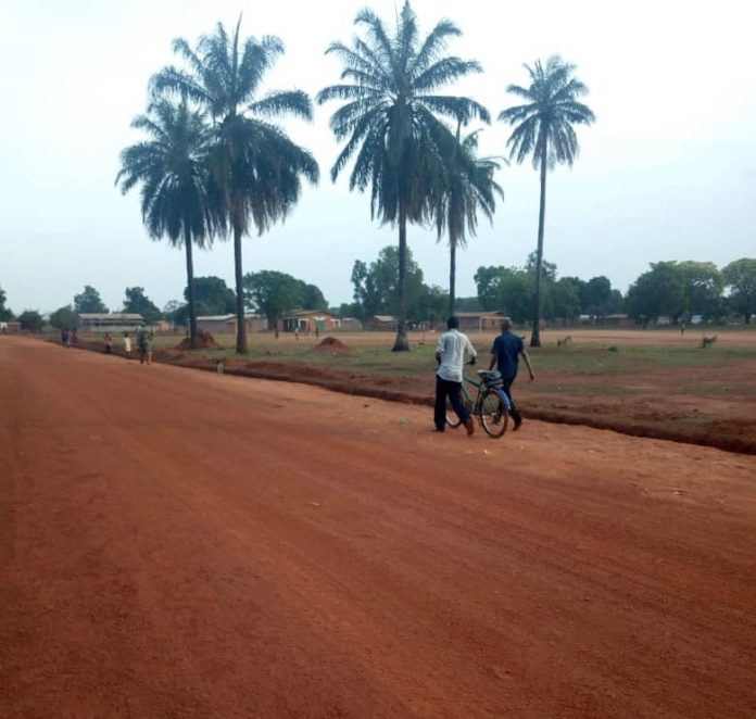
[[[685,285],[677,263],[652,263],[628,289],[626,304],[628,314],[644,328],[659,317],[677,324],[685,310]]]

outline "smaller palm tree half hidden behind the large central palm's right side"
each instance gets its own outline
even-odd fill
[[[446,168],[439,184],[436,205],[436,228],[439,240],[444,230],[449,236],[449,314],[454,314],[456,285],[456,251],[467,247],[467,234],[475,237],[478,228],[478,210],[493,220],[495,195],[502,200],[504,192],[494,181],[500,168],[496,157],[477,157],[478,130],[461,137],[462,122],[457,122],[454,143],[446,151]],[[504,160],[503,162],[506,162]]]

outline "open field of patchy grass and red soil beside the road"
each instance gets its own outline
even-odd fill
[[[677,330],[566,329],[543,332],[532,350],[537,381],[522,378],[515,396],[526,416],[583,424],[641,437],[676,439],[756,453],[756,331],[710,329],[717,342],[700,348],[703,332]],[[569,346],[557,346],[570,335]],[[250,336],[250,357],[225,350],[178,353],[176,337],[158,338],[160,360],[272,379],[299,379],[340,391],[410,402],[430,402],[436,336],[413,333],[413,351],[392,353],[392,333],[337,335],[346,352],[316,351],[323,339],[292,335]],[[488,366],[494,335],[471,332]],[[230,348],[230,349],[229,349]]]

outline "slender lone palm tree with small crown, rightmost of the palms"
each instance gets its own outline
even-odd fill
[[[538,250],[536,263],[536,307],[530,346],[541,346],[541,265],[543,263],[543,223],[546,212],[546,169],[556,163],[570,167],[579,152],[578,138],[572,125],[590,125],[595,116],[590,108],[578,102],[588,94],[588,87],[572,76],[575,65],[559,55],[552,55],[544,67],[540,60],[533,66],[525,65],[530,86],[509,85],[507,92],[527,101],[527,104],[504,110],[499,119],[515,126],[507,146],[511,156],[521,163],[532,153],[533,167],[541,171],[541,206],[538,220]]]

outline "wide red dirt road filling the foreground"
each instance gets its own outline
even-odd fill
[[[0,716],[754,717],[756,457],[0,340]]]

